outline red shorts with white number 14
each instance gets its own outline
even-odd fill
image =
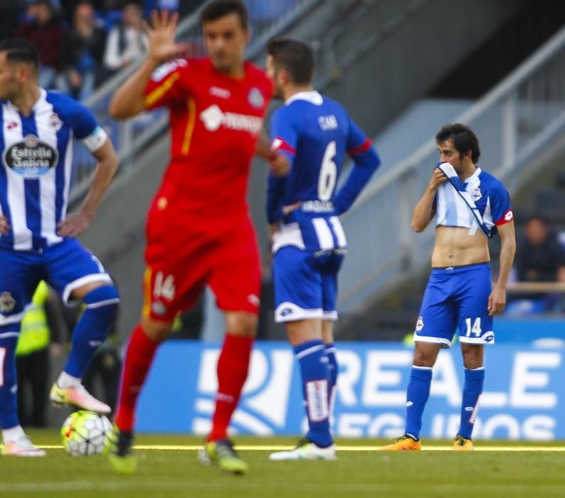
[[[193,307],[206,285],[220,309],[258,314],[260,259],[249,217],[196,228],[159,214],[147,223],[143,315],[169,322]]]

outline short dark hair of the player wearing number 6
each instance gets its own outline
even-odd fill
[[[292,83],[312,83],[315,63],[310,45],[291,38],[273,38],[267,44],[267,53],[273,57],[277,68],[287,71]]]

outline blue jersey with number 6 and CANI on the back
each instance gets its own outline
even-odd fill
[[[273,252],[285,245],[302,250],[344,249],[339,215],[347,211],[379,166],[371,141],[338,102],[315,91],[299,92],[275,111],[272,148],[292,164],[282,179],[269,178],[269,223],[282,221],[273,235]],[[352,173],[336,192],[345,155],[354,159]],[[283,206],[300,203],[287,216]]]

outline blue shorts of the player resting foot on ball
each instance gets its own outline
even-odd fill
[[[41,280],[69,304],[71,293],[90,282],[112,283],[97,258],[75,238],[43,250],[0,248],[0,326],[21,322]]]

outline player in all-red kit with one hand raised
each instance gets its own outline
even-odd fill
[[[139,390],[175,315],[193,306],[208,284],[228,332],[218,359],[213,426],[200,459],[241,474],[248,466],[226,431],[247,378],[259,309],[248,173],[255,152],[270,159],[275,173],[284,174],[286,164],[258,145],[273,88],[263,70],[244,59],[250,33],[243,3],[213,0],[201,11],[208,58],[179,58],[186,46],[174,41],[176,21],[167,12],[152,14],[147,59],[110,102],[117,119],[168,107],[172,138],[171,163],[149,208],[142,318],[127,346],[110,460],[118,472],[135,471]]]

